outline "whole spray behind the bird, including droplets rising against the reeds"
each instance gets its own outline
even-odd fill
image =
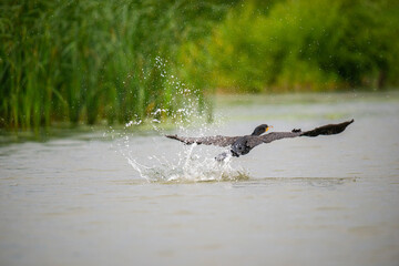
[[[190,129],[195,126],[196,135],[205,135],[209,132],[209,124],[207,123],[206,105],[200,109],[198,103],[200,93],[194,89],[188,88],[178,79],[167,73],[165,70],[166,61],[161,58],[155,59],[155,66],[160,68],[160,73],[167,78],[167,86],[175,86],[175,91],[180,95],[172,95],[173,101],[178,101],[180,106],[175,110],[156,109],[151,113],[151,117],[143,122],[139,117],[132,117],[132,121],[125,124],[123,131],[114,131],[110,129],[112,139],[114,140],[114,147],[127,161],[132,168],[140,174],[142,178],[149,182],[209,182],[209,181],[237,181],[246,180],[248,175],[243,168],[233,166],[234,158],[226,157],[223,162],[217,162],[215,151],[204,150],[197,145],[181,145],[173,154],[167,151],[162,151],[161,144],[172,145],[170,140],[163,137],[165,131],[163,129],[163,121],[157,117],[167,114],[173,121],[177,134],[187,135]],[[184,95],[184,96],[182,96]],[[201,110],[201,111],[200,111]],[[219,120],[214,121],[214,125],[218,124]],[[153,132],[156,132],[155,137],[152,137],[152,145],[150,154],[149,151],[140,151],[141,142],[137,141],[134,129],[145,123],[151,125]],[[133,129],[133,130],[132,130]],[[145,137],[149,141],[150,137]],[[171,149],[165,146],[164,150]],[[222,152],[222,151],[218,151]]]

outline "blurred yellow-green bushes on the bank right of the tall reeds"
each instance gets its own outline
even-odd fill
[[[398,13],[393,0],[245,1],[181,60],[188,80],[225,92],[395,86]]]

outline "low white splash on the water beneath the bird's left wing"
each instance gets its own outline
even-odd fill
[[[235,158],[232,156],[227,156],[223,162],[216,161],[215,155],[222,152],[218,149],[196,144],[181,145],[163,136],[135,136],[126,131],[114,131],[113,147],[140,177],[147,182],[186,183],[248,178],[244,168],[233,166]],[[176,151],[171,151],[171,147]]]

